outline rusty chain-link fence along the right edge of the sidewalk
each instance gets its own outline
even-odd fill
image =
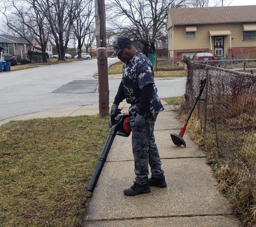
[[[186,63],[184,109],[192,109],[200,80],[206,78],[204,101],[197,103],[192,116],[198,121],[200,135],[211,140],[215,147],[215,158],[223,161],[222,181],[232,187],[235,196],[243,201],[247,215],[255,220],[256,74],[191,61]],[[255,60],[240,63],[254,67]]]

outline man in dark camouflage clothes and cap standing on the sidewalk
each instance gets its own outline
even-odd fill
[[[115,115],[118,105],[126,98],[130,103],[129,120],[132,129],[132,145],[135,161],[135,183],[123,191],[124,195],[149,193],[149,186],[167,186],[162,162],[154,137],[154,125],[159,112],[164,108],[157,96],[154,71],[149,59],[138,52],[128,37],[117,38],[112,57],[123,62],[123,77],[110,110]],[[151,178],[148,179],[149,167]]]

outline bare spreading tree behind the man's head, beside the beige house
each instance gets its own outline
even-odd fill
[[[143,53],[154,54],[156,40],[166,40],[168,9],[185,6],[186,0],[109,0],[107,12],[112,34],[128,36]]]

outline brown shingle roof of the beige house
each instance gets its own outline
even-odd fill
[[[256,5],[169,9],[174,25],[256,22]]]

